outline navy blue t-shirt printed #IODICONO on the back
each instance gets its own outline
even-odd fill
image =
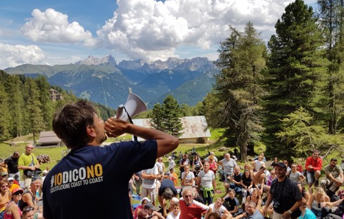
[[[44,180],[43,217],[132,218],[129,179],[153,168],[157,151],[155,140],[72,150]]]

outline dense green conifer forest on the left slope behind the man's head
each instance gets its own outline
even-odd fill
[[[63,99],[50,99],[50,89],[55,89]],[[77,98],[60,87],[52,87],[44,76],[35,79],[22,75],[9,75],[0,70],[0,140],[52,130],[52,115],[56,109]],[[103,118],[114,116],[116,111],[96,104]]]

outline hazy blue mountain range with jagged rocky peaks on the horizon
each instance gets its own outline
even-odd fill
[[[173,95],[179,104],[194,106],[211,91],[214,75],[219,69],[208,58],[157,60],[122,60],[118,64],[109,55],[88,56],[68,65],[20,65],[4,69],[10,74],[35,78],[43,75],[47,81],[76,96],[87,98],[116,109],[125,104],[129,88],[139,95],[149,108]]]

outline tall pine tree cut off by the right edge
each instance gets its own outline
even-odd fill
[[[318,0],[319,21],[325,33],[325,57],[330,61],[324,89],[315,104],[317,112],[328,121],[328,132],[336,134],[344,111],[344,5],[343,0]]]

